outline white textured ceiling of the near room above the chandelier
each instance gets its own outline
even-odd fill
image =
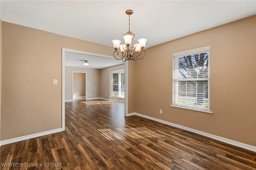
[[[128,9],[134,39],[148,39],[147,48],[255,15],[256,0],[0,1],[2,21],[109,46],[128,31]]]

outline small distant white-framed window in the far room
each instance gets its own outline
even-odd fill
[[[111,73],[111,96],[124,97],[124,70]]]

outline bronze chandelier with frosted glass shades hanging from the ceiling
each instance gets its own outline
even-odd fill
[[[134,36],[132,32],[130,32],[130,15],[133,14],[133,10],[126,10],[125,12],[127,15],[129,15],[129,31],[124,34],[124,42],[120,45],[120,40],[113,40],[113,45],[114,45],[114,53],[113,56],[116,59],[122,59],[122,61],[129,61],[129,60],[134,60],[134,61],[139,61],[142,59],[145,55],[146,52],[143,50],[147,39],[141,38],[138,40],[139,43],[136,43],[134,41]],[[120,51],[122,52],[122,57],[120,57],[118,54],[119,52],[117,51],[120,47]]]

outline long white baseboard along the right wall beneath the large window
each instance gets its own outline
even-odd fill
[[[137,116],[140,116],[140,117],[144,117],[146,119],[150,119],[152,121],[157,121],[157,122],[160,122],[160,123],[164,123],[166,125],[170,125],[170,126],[173,126],[173,127],[177,127],[177,128],[181,128],[181,129],[184,129],[184,130],[188,130],[190,132],[194,132],[194,133],[197,133],[197,134],[201,134],[203,136],[206,136],[208,138],[212,138],[212,139],[215,139],[215,140],[219,140],[221,142],[225,142],[225,143],[228,143],[228,144],[232,144],[234,146],[238,146],[240,148],[244,148],[244,149],[247,149],[247,150],[251,150],[253,152],[256,152],[256,146],[252,146],[252,145],[249,145],[249,144],[244,144],[244,143],[241,143],[241,142],[237,142],[235,140],[230,140],[228,138],[223,138],[223,137],[220,137],[220,136],[216,136],[214,134],[210,134],[210,133],[206,133],[206,132],[202,132],[200,130],[196,130],[196,129],[192,129],[192,128],[188,128],[188,127],[184,127],[184,126],[181,126],[181,125],[177,125],[177,124],[174,124],[174,123],[170,123],[170,122],[167,122],[167,121],[163,121],[161,119],[156,119],[154,117],[150,117],[150,116],[146,116],[146,115],[142,115],[140,113],[128,113],[127,116],[132,116],[132,115],[137,115]]]

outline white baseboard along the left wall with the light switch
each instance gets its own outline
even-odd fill
[[[20,142],[22,140],[36,138],[36,137],[39,137],[39,136],[44,136],[44,135],[48,135],[48,134],[52,134],[52,133],[57,133],[57,132],[61,132],[61,131],[62,131],[62,128],[56,128],[56,129],[48,130],[48,131],[45,131],[45,132],[39,132],[39,133],[29,134],[29,135],[26,135],[26,136],[20,136],[20,137],[17,137],[17,138],[11,138],[11,139],[7,139],[7,140],[2,140],[0,142],[1,142],[2,145],[5,145],[5,144],[10,144],[10,143],[14,143],[14,142]]]

